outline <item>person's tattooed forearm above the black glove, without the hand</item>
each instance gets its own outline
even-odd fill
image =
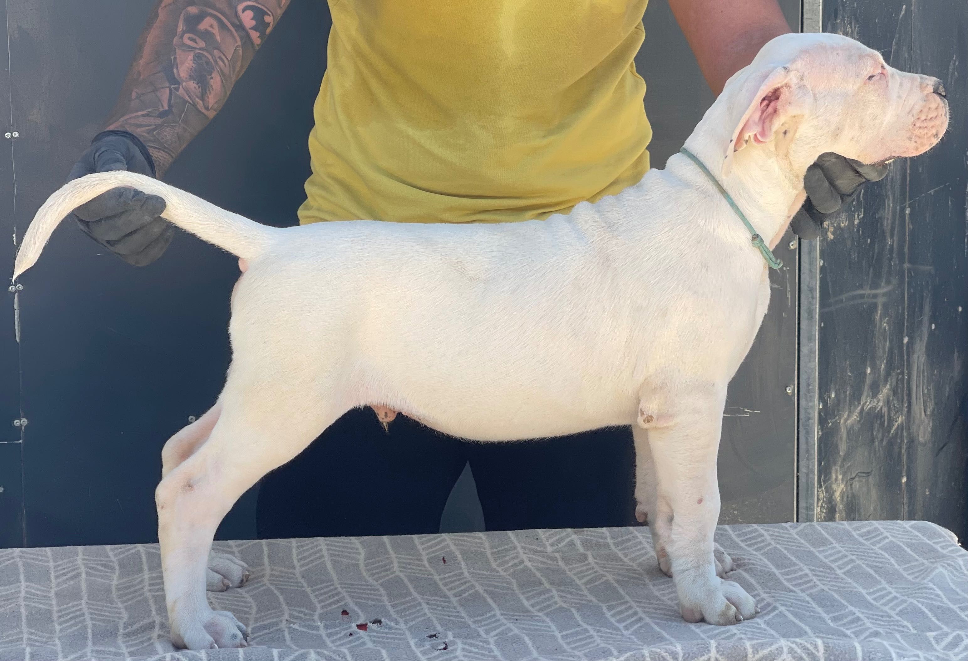
[[[159,176],[208,124],[289,0],[161,0],[108,129],[148,147]]]

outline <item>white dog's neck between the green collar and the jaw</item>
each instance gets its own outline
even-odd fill
[[[797,127],[790,127],[786,136],[781,127],[777,132],[778,139],[766,144],[750,143],[734,152],[730,172],[724,175],[722,165],[727,150],[733,149],[732,135],[726,132],[732,131],[734,123],[735,118],[729,116],[726,104],[717,101],[684,146],[710,169],[772,249],[805,196],[803,175],[806,165],[798,165],[796,161],[800,159],[791,157],[790,147]],[[705,178],[699,168],[681,154],[671,157],[667,167],[674,164],[677,168],[692,168]]]

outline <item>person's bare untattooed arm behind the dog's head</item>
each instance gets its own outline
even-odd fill
[[[776,0],[669,0],[669,6],[715,94],[764,44],[790,32]]]

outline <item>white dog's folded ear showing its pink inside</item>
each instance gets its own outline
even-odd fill
[[[742,114],[726,148],[724,177],[732,171],[735,152],[751,142],[769,142],[775,130],[796,111],[803,84],[802,76],[790,67],[778,67],[767,75],[751,73],[744,81],[737,82],[741,89],[734,104],[738,112],[742,108]]]

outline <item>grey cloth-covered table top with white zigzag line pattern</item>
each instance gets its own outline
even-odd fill
[[[646,528],[219,543],[254,646],[173,652],[155,545],[0,550],[0,659],[968,658],[968,553],[926,523],[720,526],[763,613],[687,624]]]

